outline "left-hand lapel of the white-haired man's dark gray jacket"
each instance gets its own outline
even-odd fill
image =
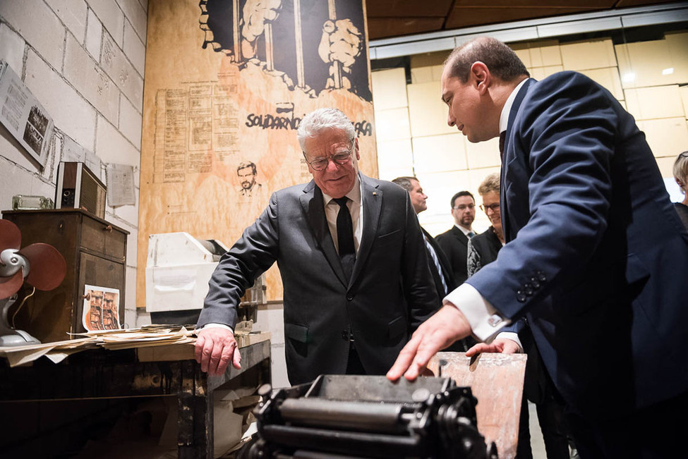
[[[315,247],[322,250],[322,253],[325,254],[327,262],[330,263],[334,274],[337,274],[339,281],[344,286],[348,285],[349,279],[344,277],[342,262],[339,261],[339,255],[337,255],[337,250],[334,248],[334,241],[330,234],[330,227],[327,226],[322,191],[311,180],[306,185],[306,188],[303,188],[303,194],[298,199],[301,202],[301,207],[303,207],[303,212],[308,216],[308,226],[313,231]]]

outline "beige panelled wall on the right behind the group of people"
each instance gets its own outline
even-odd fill
[[[630,44],[599,38],[511,46],[533,78],[572,70],[606,87],[646,133],[672,200],[683,199],[672,166],[677,154],[688,149],[688,32]],[[418,177],[428,195],[428,210],[418,217],[433,235],[454,224],[449,201],[455,192],[469,190],[481,204],[478,185],[500,170],[497,139],[471,144],[447,126],[440,79],[448,54],[411,56],[409,84],[403,68],[372,74],[380,178]],[[473,229],[480,232],[489,225],[478,209]]]

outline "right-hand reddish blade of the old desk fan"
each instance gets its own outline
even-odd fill
[[[17,252],[29,262],[26,281],[38,290],[52,290],[59,286],[67,272],[67,263],[55,247],[44,243],[27,245]]]

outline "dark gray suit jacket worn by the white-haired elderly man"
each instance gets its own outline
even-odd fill
[[[351,279],[334,248],[320,188],[313,181],[285,188],[220,259],[198,326],[234,327],[244,291],[277,261],[291,384],[344,374],[349,333],[366,372],[385,374],[440,300],[409,193],[359,177],[363,231]]]

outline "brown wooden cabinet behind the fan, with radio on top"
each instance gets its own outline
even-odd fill
[[[71,338],[67,333],[82,333],[85,285],[119,290],[119,323],[123,323],[128,231],[80,209],[4,211],[2,216],[21,230],[21,247],[47,243],[67,262],[59,287],[36,290],[18,310],[13,322],[17,329],[42,343]],[[20,294],[30,291],[24,283]],[[12,308],[9,319],[14,312]]]

